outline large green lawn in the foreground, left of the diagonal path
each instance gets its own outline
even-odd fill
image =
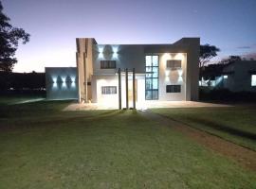
[[[256,188],[255,173],[133,111],[0,107],[0,188]]]

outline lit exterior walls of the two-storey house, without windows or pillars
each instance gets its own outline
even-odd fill
[[[199,38],[183,38],[170,44],[98,44],[93,38],[77,39],[80,101],[115,103],[119,94],[101,94],[102,86],[118,87],[118,68],[136,69],[137,102],[145,101],[145,57],[158,56],[157,100],[198,100]],[[115,60],[115,68],[101,68],[101,60]],[[166,67],[167,60],[180,60],[179,69]],[[131,79],[130,79],[131,80]],[[130,81],[129,81],[130,82]],[[122,104],[125,83],[122,76]],[[180,85],[180,93],[167,93],[166,85]]]

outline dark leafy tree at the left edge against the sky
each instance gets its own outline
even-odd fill
[[[30,35],[23,28],[9,24],[9,17],[3,13],[0,1],[0,71],[11,72],[17,59],[14,57],[19,42],[27,43]]]

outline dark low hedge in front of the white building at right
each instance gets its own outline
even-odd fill
[[[230,92],[228,89],[208,89],[200,87],[199,98],[203,101],[256,102],[256,93]]]

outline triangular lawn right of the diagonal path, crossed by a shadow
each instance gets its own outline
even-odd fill
[[[256,151],[256,106],[152,111]]]

